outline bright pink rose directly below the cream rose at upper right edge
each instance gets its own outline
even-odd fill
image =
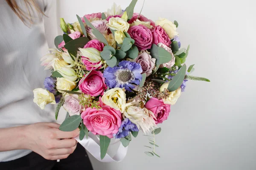
[[[158,44],[162,42],[163,44],[170,46],[171,45],[171,39],[166,34],[166,31],[161,26],[156,26],[154,30],[152,31],[153,34],[153,43]]]

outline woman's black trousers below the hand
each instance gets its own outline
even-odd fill
[[[76,150],[59,162],[44,159],[32,152],[13,161],[0,162],[0,170],[93,170],[84,147],[77,143]]]

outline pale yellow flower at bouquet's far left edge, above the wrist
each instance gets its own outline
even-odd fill
[[[44,109],[45,105],[47,104],[56,104],[54,94],[50,93],[49,91],[36,88],[33,90],[34,93],[34,100],[33,102],[36,103],[42,110]]]

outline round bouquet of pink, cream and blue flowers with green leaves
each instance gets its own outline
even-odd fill
[[[101,159],[111,138],[127,147],[141,131],[149,136],[155,153],[157,125],[169,116],[171,105],[186,88],[188,80],[207,81],[189,75],[186,67],[189,46],[180,48],[177,21],[165,18],[153,22],[134,13],[137,0],[122,10],[114,4],[103,13],[77,15],[78,21],[61,18],[63,35],[55,38],[56,49],[41,59],[52,71],[37,88],[34,102],[44,109],[57,104],[55,118],[63,106],[67,118],[59,127],[72,131],[79,127],[80,140],[90,131],[99,135]]]

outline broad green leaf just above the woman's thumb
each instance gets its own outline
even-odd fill
[[[65,132],[71,132],[79,127],[82,118],[80,115],[73,115],[64,120],[59,129]]]

